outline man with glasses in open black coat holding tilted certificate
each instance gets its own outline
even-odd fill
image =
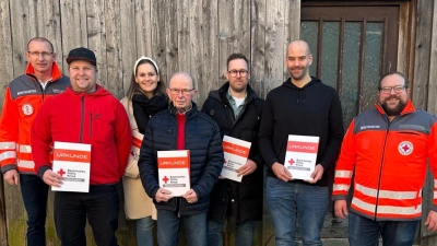
[[[223,245],[222,231],[226,218],[236,223],[235,245],[250,246],[253,221],[262,219],[262,157],[258,148],[258,130],[264,101],[250,87],[248,60],[243,54],[227,58],[227,82],[211,91],[202,112],[218,125],[223,136],[251,142],[246,163],[237,169],[240,183],[221,177],[211,192],[208,211],[208,245]]]

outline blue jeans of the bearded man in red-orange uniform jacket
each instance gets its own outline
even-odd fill
[[[349,213],[349,243],[351,246],[411,246],[420,221],[375,221]]]

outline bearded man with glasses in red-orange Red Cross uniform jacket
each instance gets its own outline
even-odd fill
[[[344,137],[335,167],[335,214],[349,215],[352,246],[412,245],[422,216],[427,160],[437,176],[437,118],[416,109],[409,80],[399,72],[382,77],[374,109],[356,116]],[[354,177],[351,212],[346,196]],[[436,183],[436,179],[434,179]],[[436,195],[436,188],[434,194]],[[425,225],[437,231],[437,198]]]

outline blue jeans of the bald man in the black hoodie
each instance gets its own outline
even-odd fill
[[[328,209],[328,187],[267,178],[267,203],[275,231],[276,246],[294,246],[296,219],[303,245],[322,245],[320,231]]]

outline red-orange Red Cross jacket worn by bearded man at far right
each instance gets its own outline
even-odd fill
[[[420,220],[427,160],[437,177],[436,120],[411,101],[392,121],[378,104],[356,116],[336,163],[333,200],[345,199],[354,173],[352,211],[377,221]]]

